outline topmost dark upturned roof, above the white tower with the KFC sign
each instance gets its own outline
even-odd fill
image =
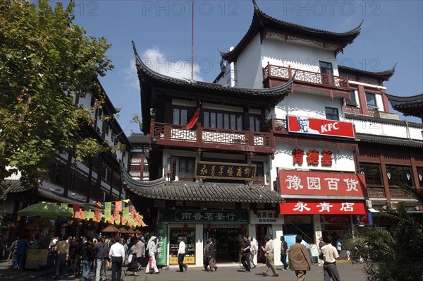
[[[304,25],[298,25],[295,23],[288,23],[283,20],[278,20],[277,18],[271,17],[260,10],[255,0],[252,0],[254,6],[254,14],[252,17],[252,22],[250,28],[245,33],[244,37],[236,45],[236,47],[230,52],[221,52],[221,56],[226,61],[236,61],[240,52],[247,46],[248,43],[255,37],[257,32],[262,30],[262,28],[271,28],[271,30],[283,30],[289,33],[289,35],[299,35],[300,37],[312,37],[324,42],[329,42],[331,45],[333,42],[338,43],[339,47],[336,49],[336,54],[341,52],[341,50],[348,44],[353,43],[355,38],[360,34],[361,26],[357,25],[356,28],[348,30],[347,32],[332,32],[328,30],[321,30],[317,28],[309,28]],[[287,34],[288,35],[288,34]],[[220,51],[219,51],[220,52]]]

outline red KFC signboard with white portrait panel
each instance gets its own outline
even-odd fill
[[[288,132],[354,138],[353,123],[288,115]]]

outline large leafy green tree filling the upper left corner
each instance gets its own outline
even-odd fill
[[[110,150],[108,143],[80,138],[102,106],[98,76],[113,68],[104,37],[92,37],[73,23],[67,7],[23,0],[0,0],[0,184],[20,171],[25,186],[38,186],[49,160],[73,152],[76,159]],[[93,107],[75,100],[87,92]],[[12,167],[6,169],[6,167]],[[1,192],[1,189],[0,189]]]

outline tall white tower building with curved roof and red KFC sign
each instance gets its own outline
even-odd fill
[[[317,30],[272,18],[253,4],[250,28],[221,54],[227,69],[215,81],[271,89],[294,79],[290,95],[266,113],[275,136],[269,177],[286,199],[279,210],[283,234],[302,234],[309,243],[322,234],[341,236],[367,213],[358,139],[345,121],[344,102],[353,88],[336,61],[361,23],[347,32]]]

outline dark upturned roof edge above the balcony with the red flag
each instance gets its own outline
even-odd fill
[[[274,88],[242,88],[242,87],[228,87],[226,85],[216,84],[216,83],[209,83],[209,82],[202,82],[192,79],[179,79],[179,78],[173,78],[171,76],[166,76],[164,74],[158,73],[156,71],[153,71],[151,68],[146,66],[143,62],[140,56],[137,53],[137,49],[135,47],[135,42],[133,43],[133,49],[135,54],[135,65],[137,67],[138,75],[140,76],[140,72],[142,75],[142,78],[149,78],[151,80],[157,81],[157,82],[164,82],[169,84],[177,84],[177,85],[183,85],[187,88],[192,89],[209,89],[209,90],[216,90],[216,91],[223,91],[223,92],[233,92],[233,93],[239,93],[244,95],[251,95],[251,96],[260,96],[260,95],[268,95],[268,96],[281,96],[283,97],[290,92],[292,86],[293,86],[293,80],[295,78],[295,73],[293,77],[288,80],[285,84],[279,85],[278,87]],[[141,77],[140,77],[141,78]]]

